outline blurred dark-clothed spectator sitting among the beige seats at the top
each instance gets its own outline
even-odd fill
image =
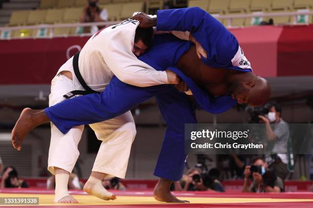
[[[94,22],[105,22],[108,19],[108,12],[106,9],[101,9],[98,6],[99,0],[88,0],[87,4],[83,10],[83,13],[80,17],[81,23],[94,23]],[[102,27],[84,27],[83,33],[96,33]]]

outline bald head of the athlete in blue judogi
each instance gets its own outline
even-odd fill
[[[253,73],[235,74],[228,86],[228,92],[238,103],[249,106],[263,105],[271,97],[269,82]]]

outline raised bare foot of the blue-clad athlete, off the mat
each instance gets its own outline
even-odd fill
[[[19,151],[26,135],[35,127],[48,121],[49,119],[44,110],[24,109],[12,130],[11,140],[13,147]]]

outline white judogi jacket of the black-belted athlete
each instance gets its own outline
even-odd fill
[[[79,71],[86,84],[96,91],[103,91],[116,75],[127,84],[148,87],[167,84],[165,71],[154,70],[132,53],[135,32],[139,22],[124,22],[94,34],[79,54]],[[61,71],[71,71],[74,89],[82,89],[73,69],[73,57],[61,66]]]

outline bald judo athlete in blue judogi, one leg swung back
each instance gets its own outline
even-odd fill
[[[65,134],[75,126],[114,118],[155,96],[167,129],[154,171],[154,175],[161,178],[154,197],[160,201],[182,202],[171,195],[169,186],[183,175],[184,125],[197,122],[195,107],[217,114],[237,102],[261,105],[270,97],[270,87],[266,80],[252,73],[234,35],[204,10],[158,11],[157,30],[190,31],[207,51],[207,58],[198,59],[189,41],[161,34],[155,35],[151,49],[139,57],[156,70],[170,69],[177,73],[191,90],[194,101],[171,85],[140,88],[113,77],[101,94],[68,99],[44,112],[33,110],[36,113],[32,115],[48,116],[44,122],[53,122]],[[221,96],[225,94],[231,96]]]

